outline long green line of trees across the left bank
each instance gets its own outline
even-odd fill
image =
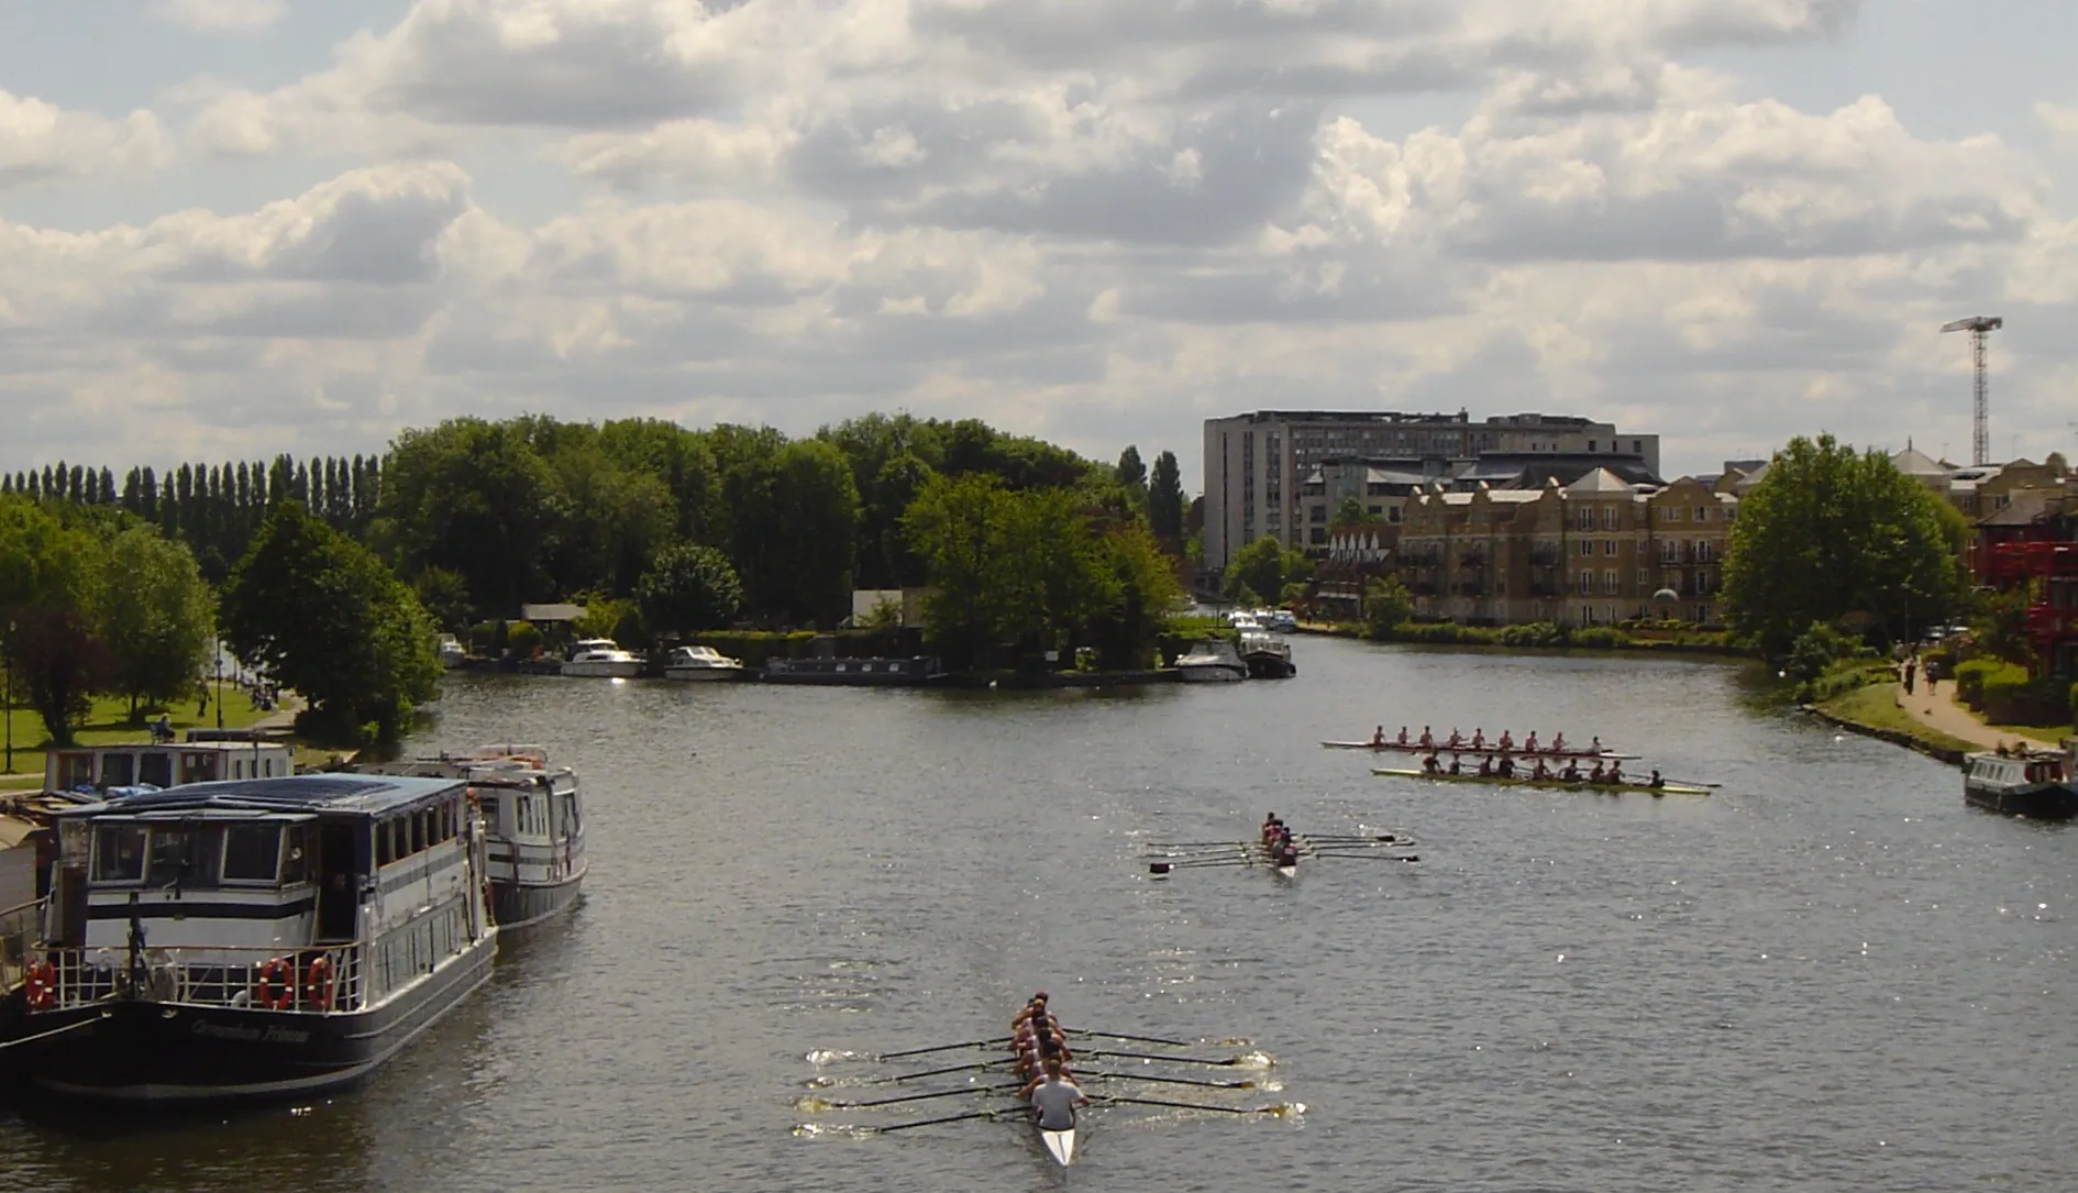
[[[979,420],[767,426],[455,418],[387,455],[56,463],[0,476],[0,651],[52,740],[87,696],[185,696],[212,636],[328,736],[432,694],[434,630],[578,601],[638,644],[833,628],[854,588],[935,586],[948,663],[1145,665],[1178,599],[1174,453],[1116,466]],[[954,536],[966,534],[964,545]]]

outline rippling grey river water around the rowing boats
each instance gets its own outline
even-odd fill
[[[1716,661],[1320,638],[1297,661],[1045,694],[455,675],[414,748],[576,765],[578,912],[505,942],[355,1093],[31,1116],[0,1131],[0,1189],[2078,1187],[2072,831],[1968,811],[1951,769],[1770,709]],[[1378,721],[1600,734],[1723,788],[1426,786],[1317,744]],[[1411,831],[1421,863],[1139,858],[1266,811]],[[1101,1108],[1062,1172],[1016,1124],[856,1137],[833,1126],[900,1108],[796,1106],[885,1070],[808,1054],[985,1037],[1033,989],[1070,1027],[1276,1060],[1162,1068],[1270,1089],[1153,1097],[1305,1112]]]

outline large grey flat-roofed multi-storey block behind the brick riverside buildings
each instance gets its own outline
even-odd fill
[[[1594,468],[1648,480],[1660,441],[1577,416],[1261,409],[1205,420],[1203,459],[1205,565],[1220,569],[1261,536],[1324,555],[1344,497],[1390,524],[1423,484],[1517,488]]]

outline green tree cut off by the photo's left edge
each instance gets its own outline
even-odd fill
[[[89,694],[108,682],[108,648],[96,636],[102,559],[89,530],[27,497],[0,497],[0,646],[58,746],[73,744]]]

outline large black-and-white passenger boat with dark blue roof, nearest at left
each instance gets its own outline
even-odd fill
[[[351,1085],[490,973],[463,781],[195,784],[54,823],[17,1054],[48,1093],[179,1106]]]

